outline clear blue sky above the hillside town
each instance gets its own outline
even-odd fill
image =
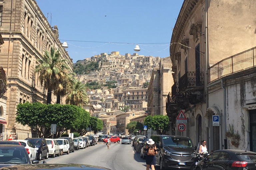
[[[68,43],[66,50],[73,62],[102,52],[133,54],[136,44],[141,49],[139,55],[170,56],[172,29],[182,3],[183,0],[37,0],[51,26],[57,25],[60,41]]]

